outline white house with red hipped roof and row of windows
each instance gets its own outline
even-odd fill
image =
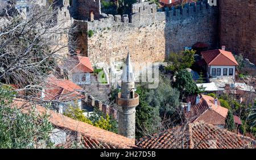
[[[238,63],[233,54],[225,50],[225,47],[201,52],[201,54],[207,64],[207,76],[209,78],[235,78],[235,69]]]

